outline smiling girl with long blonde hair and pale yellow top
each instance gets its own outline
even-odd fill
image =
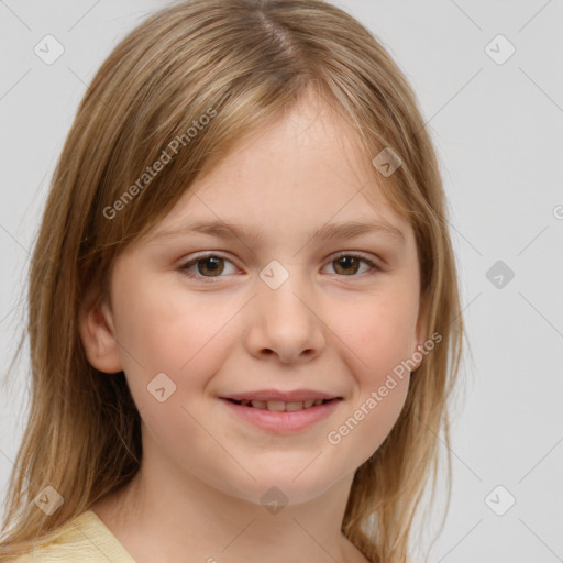
[[[130,33],[29,299],[1,561],[411,561],[463,325],[415,95],[349,14],[189,0]]]

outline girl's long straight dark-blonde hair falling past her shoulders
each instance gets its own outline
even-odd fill
[[[464,332],[446,203],[402,73],[363,25],[322,0],[174,4],[133,30],[93,78],[54,173],[31,263],[31,411],[9,483],[2,560],[124,486],[140,467],[140,417],[124,375],[100,376],[79,338],[88,289],[108,296],[118,253],[170,211],[203,164],[309,89],[354,129],[371,174],[410,221],[426,334],[442,338],[412,374],[391,432],[357,468],[342,522],[372,562],[409,561],[430,475],[434,493],[440,430],[449,444],[448,398]],[[174,140],[181,148],[140,184]],[[388,177],[371,164],[386,147],[401,161]],[[33,503],[46,486],[64,498],[51,516]]]

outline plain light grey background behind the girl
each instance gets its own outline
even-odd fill
[[[0,1],[2,373],[25,313],[40,213],[78,102],[113,46],[166,4]],[[339,5],[374,31],[412,84],[450,201],[472,347],[454,411],[451,508],[429,561],[563,561],[562,2]],[[46,34],[65,47],[53,65],[34,53]],[[516,48],[504,64],[485,51],[498,34]],[[493,48],[497,57],[507,52],[498,40]],[[499,272],[487,278],[497,261],[515,274],[500,288]],[[15,387],[0,395],[1,498],[23,432],[27,378],[24,362]],[[489,496],[498,485],[504,489]],[[495,514],[510,496],[516,504]],[[438,523],[431,517],[424,529]]]

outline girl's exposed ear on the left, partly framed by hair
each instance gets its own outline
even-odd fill
[[[106,299],[90,289],[78,313],[78,329],[88,362],[98,371],[114,374],[123,369],[113,325]]]

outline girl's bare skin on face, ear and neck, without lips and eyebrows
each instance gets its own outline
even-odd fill
[[[111,306],[82,307],[88,360],[107,377],[124,371],[143,437],[139,474],[91,508],[139,563],[367,561],[340,529],[354,472],[395,424],[408,374],[338,445],[327,435],[424,335],[413,231],[357,161],[352,135],[318,99],[305,98],[206,167],[170,213],[118,256]],[[156,236],[218,218],[263,235]],[[404,242],[383,232],[309,240],[327,222],[351,220],[385,220]],[[180,267],[206,251],[225,260],[192,264],[199,277],[188,277]],[[339,251],[384,269],[343,264]],[[277,289],[260,277],[273,260],[289,274]],[[176,390],[159,402],[147,385],[162,372]],[[312,427],[279,434],[218,398],[266,388],[343,400]],[[260,500],[273,486],[287,498],[277,514]]]

